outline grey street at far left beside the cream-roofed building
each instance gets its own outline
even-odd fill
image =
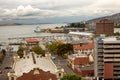
[[[5,67],[12,67],[14,54],[15,53],[6,53],[6,56],[0,65],[0,69],[2,70],[2,74],[0,74],[0,80],[8,80],[7,73],[10,71],[10,69],[5,69]]]

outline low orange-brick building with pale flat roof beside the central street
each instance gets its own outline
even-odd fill
[[[71,54],[68,56],[69,66],[76,74],[83,77],[94,76],[93,63],[90,64],[89,57],[85,54]]]

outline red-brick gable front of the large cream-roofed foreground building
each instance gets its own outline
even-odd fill
[[[50,73],[49,71],[43,71],[39,68],[34,68],[28,73],[24,73],[22,76],[18,77],[17,80],[57,80],[55,74]]]

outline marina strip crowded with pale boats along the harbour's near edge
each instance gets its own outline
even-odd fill
[[[52,34],[52,35],[44,35],[44,36],[31,36],[31,37],[11,37],[8,38],[8,42],[0,43],[1,45],[21,45],[25,44],[26,39],[35,38],[43,42],[49,42],[49,41],[71,41],[71,38],[74,36],[71,36],[69,34]]]

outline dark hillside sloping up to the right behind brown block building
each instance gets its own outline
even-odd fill
[[[88,20],[87,22],[88,23],[96,23],[96,21],[99,21],[101,19],[109,19],[109,20],[114,21],[115,24],[120,24],[120,13],[110,15],[110,16],[104,16],[104,17],[91,19],[91,20]]]

